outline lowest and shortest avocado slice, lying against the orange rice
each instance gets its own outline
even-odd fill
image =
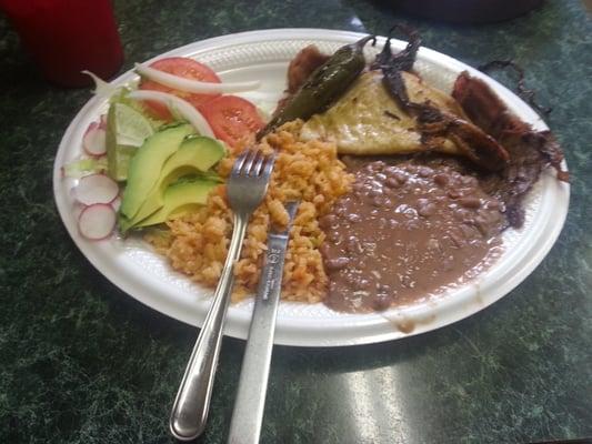
[[[162,206],[136,226],[155,225],[199,209],[205,203],[208,194],[217,185],[219,185],[218,182],[201,179],[169,185],[162,196]]]

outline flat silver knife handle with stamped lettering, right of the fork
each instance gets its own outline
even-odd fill
[[[229,444],[259,443],[287,245],[287,234],[268,236],[265,265],[261,273],[249,340],[244,350],[239,390],[230,423]]]

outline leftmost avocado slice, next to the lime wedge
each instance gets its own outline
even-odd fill
[[[164,162],[179,149],[183,139],[192,133],[194,130],[189,124],[168,127],[149,137],[131,158],[128,184],[119,210],[122,231],[129,228],[129,221],[136,216],[159,181]]]

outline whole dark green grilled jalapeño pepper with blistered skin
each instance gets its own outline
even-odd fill
[[[363,48],[374,36],[368,36],[352,44],[341,47],[304,82],[288,104],[263,128],[258,138],[294,119],[309,119],[329,108],[365,67]]]

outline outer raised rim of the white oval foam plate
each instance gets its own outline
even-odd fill
[[[298,38],[300,40],[315,40],[315,39],[324,39],[324,40],[333,40],[339,41],[343,43],[351,42],[353,40],[357,40],[363,36],[368,36],[368,33],[360,33],[360,32],[353,32],[353,31],[343,31],[343,30],[328,30],[328,29],[318,29],[318,28],[279,28],[279,29],[268,29],[268,30],[255,30],[255,31],[245,31],[245,32],[239,32],[239,33],[231,33],[220,37],[213,37],[210,39],[197,41],[193,43],[189,43],[175,49],[172,49],[170,51],[167,51],[164,53],[158,54],[149,60],[147,62],[150,62],[152,60],[162,58],[162,57],[171,57],[171,56],[181,56],[181,54],[193,54],[199,51],[208,51],[213,50],[215,47],[223,44],[223,46],[232,46],[237,43],[247,43],[247,42],[254,42],[254,41],[279,41],[279,40],[293,40],[294,38]],[[384,37],[380,37],[379,41],[383,42]],[[395,40],[393,39],[393,43]],[[403,44],[401,41],[397,41],[398,44]],[[450,56],[443,54],[441,52],[431,50],[429,48],[422,47],[420,49],[420,57],[425,57],[428,59],[435,59],[441,62],[445,62],[448,67],[451,69],[462,71],[466,70],[472,75],[479,77],[483,79],[485,82],[488,82],[490,85],[494,87],[496,92],[500,95],[509,95],[513,98],[514,104],[520,104],[520,108],[522,112],[526,112],[531,114],[531,118],[533,119],[533,124],[536,125],[540,129],[546,129],[546,124],[540,118],[528,104],[525,104],[520,98],[518,98],[513,92],[511,92],[509,89],[506,89],[501,83],[496,82],[494,79],[490,78],[489,75],[485,75],[481,73],[480,71],[476,71],[472,67],[453,59]],[[129,70],[117,77],[111,81],[113,84],[120,84],[120,83],[127,83],[133,78],[133,70]],[[69,208],[69,204],[67,202],[67,199],[64,195],[62,195],[60,191],[60,183],[62,182],[61,176],[61,167],[63,165],[63,158],[67,153],[67,145],[68,141],[72,138],[73,133],[78,129],[78,125],[81,120],[93,109],[98,109],[98,107],[101,104],[101,100],[92,97],[77,113],[77,115],[72,119],[70,124],[68,125],[68,129],[66,130],[62,140],[60,141],[56,160],[53,163],[53,195],[54,201],[58,206],[58,212],[60,214],[60,219],[64,226],[67,228],[68,233],[70,234],[70,238],[77,245],[77,248],[80,250],[80,252],[84,255],[84,258],[97,269],[107,280],[109,280],[112,284],[118,286],[120,290],[122,290],[128,295],[132,296],[137,301],[143,303],[144,305],[150,306],[153,310],[159,311],[162,314],[165,314],[170,317],[177,319],[181,322],[188,323],[190,325],[200,326],[203,323],[203,319],[205,316],[205,313],[202,313],[202,316],[200,319],[197,319],[194,314],[188,313],[183,310],[183,307],[172,307],[169,304],[169,307],[163,311],[163,307],[161,304],[159,304],[159,297],[154,297],[154,295],[149,295],[149,293],[143,295],[136,294],[138,292],[138,287],[131,283],[127,282],[126,274],[118,273],[118,270],[113,269],[113,264],[106,264],[103,263],[100,258],[97,256],[93,248],[89,249],[88,241],[84,241],[80,238],[78,234],[78,230],[71,224],[67,223],[67,220],[69,218],[69,212],[71,212],[71,209]],[[512,108],[514,110],[514,108]],[[515,110],[514,110],[515,111]],[[548,173],[542,174],[539,182],[542,182],[543,180],[549,181]],[[546,176],[546,178],[545,178]],[[553,179],[554,180],[554,179]],[[564,202],[563,205],[561,205],[559,209],[555,206],[555,218],[553,219],[553,223],[551,228],[548,228],[549,234],[544,236],[543,243],[539,244],[539,246],[535,249],[535,254],[530,255],[524,263],[522,263],[522,266],[519,268],[518,272],[512,274],[508,280],[503,281],[501,284],[496,286],[496,289],[493,292],[489,292],[485,297],[478,297],[479,299],[479,306],[470,307],[469,310],[454,310],[453,301],[450,301],[452,303],[452,306],[449,306],[446,303],[440,303],[440,309],[444,309],[444,311],[449,311],[448,315],[443,319],[441,322],[434,322],[433,320],[422,320],[421,315],[418,316],[415,320],[417,326],[412,331],[404,331],[404,327],[401,327],[401,322],[404,322],[404,320],[398,320],[397,315],[393,317],[389,317],[382,314],[372,313],[368,316],[360,316],[360,315],[344,315],[341,319],[350,317],[353,324],[355,324],[355,329],[359,332],[358,334],[353,336],[342,336],[340,333],[342,333],[343,324],[342,322],[339,323],[338,326],[335,325],[307,325],[307,330],[302,331],[300,329],[295,329],[294,332],[293,325],[290,326],[290,323],[285,324],[282,329],[282,325],[280,323],[280,319],[278,320],[278,327],[277,327],[277,335],[275,335],[275,344],[281,345],[292,345],[292,346],[348,346],[348,345],[362,345],[362,344],[370,344],[370,343],[378,343],[378,342],[384,342],[384,341],[391,341],[397,340],[401,337],[407,337],[415,334],[421,334],[428,331],[438,330],[442,326],[450,325],[454,322],[458,322],[462,319],[469,317],[481,310],[490,306],[501,297],[508,295],[515,286],[518,286],[524,279],[532,273],[532,271],[542,262],[542,260],[548,255],[551,248],[556,242],[556,239],[559,238],[559,234],[561,233],[561,230],[563,228],[563,224],[565,222],[565,218],[568,214],[569,209],[569,201],[570,201],[570,185],[565,183],[561,183],[558,186],[558,192],[562,193],[562,200]],[[550,220],[545,220],[545,225],[550,224]],[[540,229],[539,231],[541,231]],[[535,234],[535,233],[534,233]],[[533,235],[533,233],[531,233]],[[89,252],[90,250],[90,252]],[[100,250],[100,248],[98,249]],[[109,266],[111,265],[111,266]],[[475,280],[471,285],[474,285],[476,287],[476,293],[479,295],[479,279]],[[469,289],[465,289],[469,291]],[[474,289],[473,289],[474,290]],[[481,294],[482,296],[482,294]],[[443,297],[444,299],[444,297]],[[251,304],[252,305],[252,304]],[[421,305],[420,305],[421,306]],[[233,311],[233,307],[230,307],[229,315],[231,315]],[[235,309],[234,309],[235,311]],[[248,331],[248,316],[250,314],[249,311],[242,310],[242,316],[234,316],[231,322],[227,322],[224,327],[224,334],[230,335],[233,337],[242,339],[244,340],[247,336]],[[413,314],[413,307],[411,310],[408,310],[409,313]],[[409,314],[408,313],[408,314]],[[235,313],[234,313],[235,314]],[[420,313],[421,314],[421,313]],[[381,322],[377,322],[377,319],[382,317]],[[362,320],[361,319],[368,319]],[[382,324],[382,330],[379,331],[379,323]],[[394,325],[393,325],[394,324]],[[282,331],[283,330],[283,331]],[[329,333],[329,334],[328,334]],[[319,339],[320,334],[324,334],[327,336]],[[294,337],[295,335],[295,337]]]

